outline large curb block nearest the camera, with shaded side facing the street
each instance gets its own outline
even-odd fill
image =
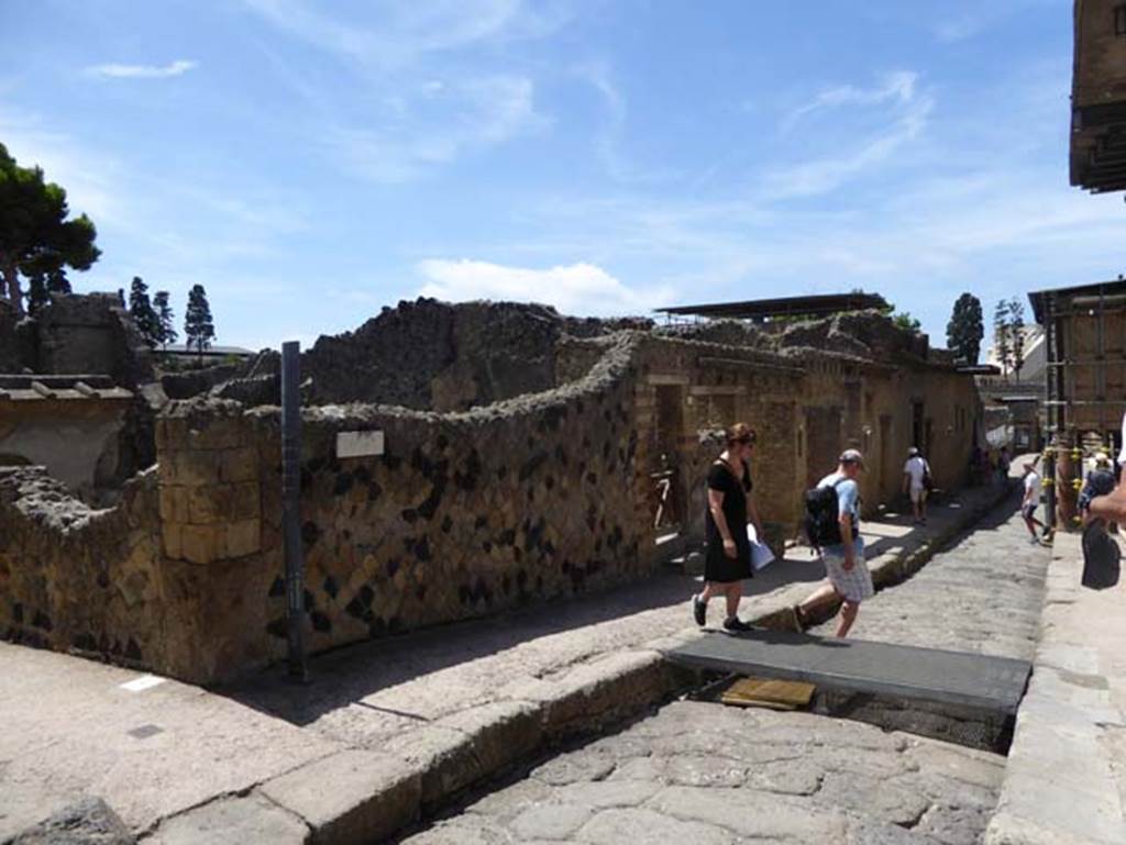
[[[312,828],[311,842],[366,845],[391,836],[418,816],[419,771],[395,756],[343,750],[267,781],[271,801]]]

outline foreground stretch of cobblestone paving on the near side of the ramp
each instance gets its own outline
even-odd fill
[[[1004,757],[810,713],[677,702],[403,845],[972,845]]]

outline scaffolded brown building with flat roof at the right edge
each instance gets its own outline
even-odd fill
[[[1044,486],[1047,492],[1048,525],[1055,527],[1057,511],[1072,519],[1074,498],[1082,486],[1082,461],[1097,450],[1121,448],[1117,442],[1126,411],[1126,281],[1084,285],[1029,294],[1036,320],[1044,326],[1046,421]],[[1117,316],[1119,336],[1108,339],[1108,315]],[[1079,343],[1080,321],[1093,320],[1094,349]],[[1085,335],[1084,335],[1085,340]],[[1116,341],[1108,343],[1108,340]],[[1111,379],[1111,368],[1119,378]],[[1092,378],[1081,379],[1090,370]],[[1117,395],[1109,392],[1117,386]],[[1097,442],[1083,434],[1098,433]],[[1105,442],[1103,442],[1105,439]]]

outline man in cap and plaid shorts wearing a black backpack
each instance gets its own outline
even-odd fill
[[[815,606],[837,599],[843,602],[837,636],[847,636],[860,611],[860,603],[876,592],[864,561],[864,539],[860,537],[860,485],[857,478],[863,469],[864,456],[856,449],[847,449],[840,456],[837,471],[817,482],[819,488],[835,489],[838,533],[831,536],[835,542],[821,549],[829,584],[794,605],[795,621],[803,630],[808,627],[810,613]],[[810,539],[815,541],[815,538]]]

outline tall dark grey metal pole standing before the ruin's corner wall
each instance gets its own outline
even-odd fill
[[[301,546],[301,344],[282,344],[282,530],[285,548],[289,677],[309,680],[302,626],[305,621],[305,561]]]

